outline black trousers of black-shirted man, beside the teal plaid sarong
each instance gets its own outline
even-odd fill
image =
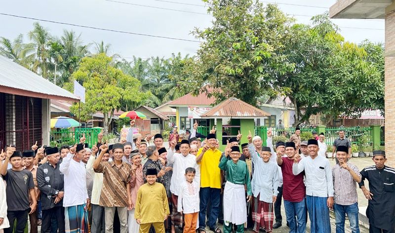
[[[52,217],[56,218],[57,226],[52,226],[55,224]],[[54,227],[58,229],[59,233],[65,233],[65,208],[63,206],[42,210],[41,233],[51,233],[51,229]]]

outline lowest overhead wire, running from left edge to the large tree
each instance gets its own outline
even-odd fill
[[[198,41],[198,40],[182,39],[182,38],[169,37],[169,36],[162,36],[162,35],[151,35],[151,34],[145,34],[145,33],[132,33],[132,32],[118,31],[118,30],[105,29],[105,28],[97,28],[97,27],[91,27],[91,26],[85,26],[85,25],[79,25],[79,24],[64,23],[64,22],[58,22],[58,21],[52,21],[52,20],[45,20],[45,19],[39,19],[39,18],[33,18],[33,17],[26,17],[26,16],[20,16],[20,15],[13,15],[13,14],[6,14],[6,13],[0,13],[0,15],[11,16],[11,17],[16,17],[16,18],[22,18],[22,19],[32,19],[32,20],[37,20],[37,21],[42,21],[42,22],[48,22],[48,23],[54,23],[54,24],[70,25],[70,26],[75,26],[75,27],[80,27],[80,28],[96,29],[96,30],[114,32],[114,33],[124,33],[124,34],[132,34],[132,35],[143,35],[143,36],[150,36],[150,37],[156,37],[156,38],[174,39],[174,40],[182,40],[182,41],[190,41],[190,42],[201,42],[201,41]]]

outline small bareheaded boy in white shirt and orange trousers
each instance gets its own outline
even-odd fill
[[[178,212],[184,213],[184,233],[195,233],[199,216],[199,185],[194,181],[196,169],[185,169],[186,182],[180,184],[178,192]]]

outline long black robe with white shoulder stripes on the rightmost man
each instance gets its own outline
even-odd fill
[[[359,187],[364,186],[364,179],[369,181],[369,191],[373,194],[368,200],[366,216],[369,224],[384,230],[395,228],[395,169],[384,166],[368,166],[361,170]]]

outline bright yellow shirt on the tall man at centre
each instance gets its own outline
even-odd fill
[[[200,155],[203,148],[197,151],[197,155]],[[221,188],[221,169],[218,167],[219,160],[221,158],[222,152],[218,149],[214,151],[208,149],[201,161],[198,163],[200,165],[200,187],[201,188]]]

